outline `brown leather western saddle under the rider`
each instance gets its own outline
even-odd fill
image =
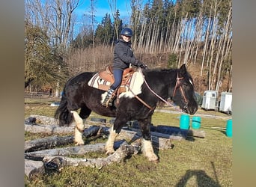
[[[132,74],[134,72],[135,72],[135,70],[132,67],[128,67],[127,69],[124,69],[123,76],[122,76],[122,82],[121,82],[120,87],[118,88],[118,93],[127,91],[125,86],[127,85],[127,82],[132,77]],[[113,75],[113,67],[107,66],[106,70],[99,72],[99,76],[101,79],[105,80],[106,82],[110,82],[111,85],[115,82],[115,78]],[[99,88],[107,91],[109,89],[109,86],[99,85]]]

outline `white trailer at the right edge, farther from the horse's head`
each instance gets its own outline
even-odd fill
[[[222,92],[221,100],[219,103],[219,111],[231,114],[232,112],[232,93]]]

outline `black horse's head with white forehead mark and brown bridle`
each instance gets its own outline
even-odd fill
[[[195,101],[193,79],[186,71],[185,64],[177,70],[177,81],[173,90],[172,100],[188,114],[195,114],[198,110],[198,103]]]

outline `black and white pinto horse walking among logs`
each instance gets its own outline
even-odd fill
[[[141,84],[139,94],[123,95],[119,104],[113,107],[105,107],[101,104],[103,93],[106,91],[93,88],[88,85],[89,80],[96,73],[81,73],[69,79],[64,86],[60,105],[55,111],[55,118],[60,126],[67,126],[76,121],[75,142],[84,144],[82,132],[85,128],[85,119],[91,111],[106,117],[115,117],[115,122],[109,130],[109,138],[106,142],[106,153],[114,153],[114,141],[118,133],[127,121],[138,120],[143,138],[142,150],[144,156],[150,161],[159,158],[153,152],[150,135],[150,123],[156,103],[159,100],[171,98],[180,106],[180,109],[188,114],[195,114],[198,104],[194,97],[193,80],[183,64],[179,69],[171,70],[143,70],[144,81]],[[79,114],[76,112],[80,108]]]

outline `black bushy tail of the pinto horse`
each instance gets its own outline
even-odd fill
[[[67,96],[65,93],[61,96],[61,102],[55,111],[55,119],[58,120],[59,126],[69,126],[73,122],[73,114],[67,109]]]

